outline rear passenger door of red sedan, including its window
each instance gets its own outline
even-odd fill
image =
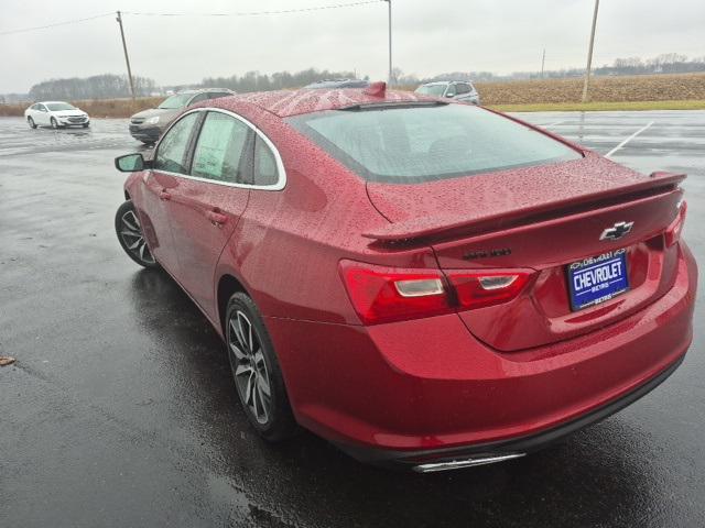
[[[180,282],[215,318],[214,273],[249,199],[253,132],[229,112],[198,113],[205,119],[191,168],[173,189],[167,208]]]

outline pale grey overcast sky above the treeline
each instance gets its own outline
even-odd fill
[[[0,32],[111,10],[232,12],[354,0],[2,0]],[[593,0],[392,0],[394,66],[444,72],[536,70],[585,64]],[[308,67],[387,77],[387,3],[245,18],[124,15],[137,75],[158,84]],[[41,80],[124,73],[113,16],[0,35],[0,92]],[[705,56],[705,0],[603,0],[596,65],[660,53]]]

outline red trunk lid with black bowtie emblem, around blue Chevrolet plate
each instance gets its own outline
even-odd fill
[[[665,229],[677,217],[684,176],[647,177],[588,153],[584,160],[432,184],[368,183],[391,223],[366,235],[378,244],[424,243],[442,270],[531,268],[516,299],[459,312],[468,330],[500,351],[577,337],[628,317],[665,294],[676,246]],[[606,229],[633,222],[618,240]],[[629,289],[574,310],[567,267],[625,250]]]

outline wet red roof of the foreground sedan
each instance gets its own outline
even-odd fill
[[[240,94],[212,101],[219,108],[232,107],[238,101],[249,102],[270,113],[286,118],[302,113],[339,110],[357,105],[383,105],[414,101],[435,101],[437,99],[412,91],[386,90],[382,96],[373,96],[359,88],[339,88],[333,90],[280,90]]]

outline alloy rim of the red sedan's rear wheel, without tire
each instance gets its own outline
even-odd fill
[[[228,349],[240,398],[257,422],[264,425],[272,416],[272,384],[257,330],[240,310],[228,321]]]

